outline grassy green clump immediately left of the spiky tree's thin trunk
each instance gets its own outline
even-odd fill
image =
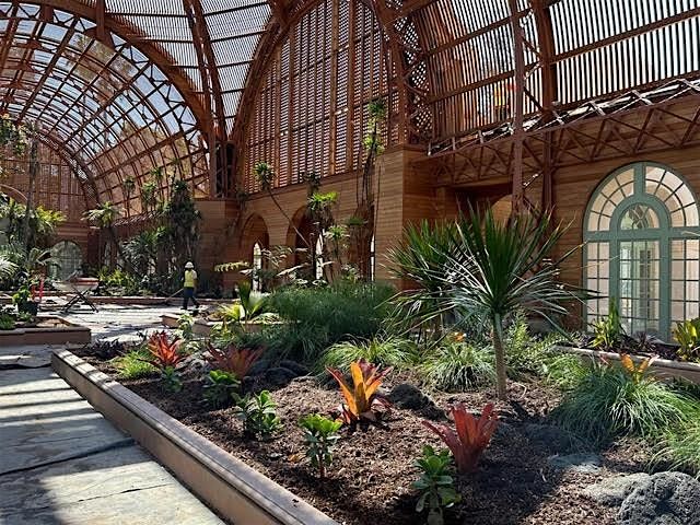
[[[446,392],[464,392],[495,382],[493,352],[454,335],[425,357],[420,371],[428,383]]]

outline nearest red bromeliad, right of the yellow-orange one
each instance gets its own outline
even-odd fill
[[[472,472],[499,424],[498,415],[493,410],[493,404],[488,404],[483,407],[481,417],[476,419],[462,402],[454,405],[451,413],[455,421],[456,432],[442,423],[434,424],[430,421],[423,421],[423,424],[435,432],[447,445],[455,458],[459,474]]]

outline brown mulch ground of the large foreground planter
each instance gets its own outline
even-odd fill
[[[107,362],[91,357],[89,351],[81,353],[103,372],[114,375]],[[406,380],[395,374],[386,386],[390,388]],[[330,478],[319,482],[308,464],[300,460],[304,448],[296,421],[308,413],[332,411],[340,402],[335,388],[318,385],[311,377],[300,377],[273,390],[284,430],[279,438],[260,443],[242,435],[242,425],[231,409],[210,410],[202,402],[202,386],[194,375],[185,378],[184,390],[176,395],[163,393],[153,378],[122,383],[340,523],[423,523],[413,512],[416,497],[410,485],[417,471],[411,464],[424,444],[442,444],[411,410],[395,408],[382,428],[354,432],[343,429]],[[498,406],[503,421],[501,429],[479,470],[458,479],[463,502],[447,512],[447,524],[614,523],[615,510],[585,499],[581,491],[616,472],[639,471],[643,451],[631,444],[610,448],[603,453],[604,466],[596,474],[555,470],[546,459],[560,451],[534,445],[522,427],[541,422],[542,416],[557,404],[558,394],[535,384],[511,384],[510,387],[512,401]],[[488,390],[433,396],[439,407],[446,408],[450,402],[462,400],[474,410],[493,397]]]

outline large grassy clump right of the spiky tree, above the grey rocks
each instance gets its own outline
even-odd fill
[[[594,444],[614,438],[656,436],[682,423],[689,398],[649,375],[650,361],[635,366],[594,363],[552,412],[556,422]]]

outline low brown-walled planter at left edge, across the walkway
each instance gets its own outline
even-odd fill
[[[74,325],[60,317],[38,317],[36,327],[0,330],[0,347],[24,345],[88,345],[90,328]]]

